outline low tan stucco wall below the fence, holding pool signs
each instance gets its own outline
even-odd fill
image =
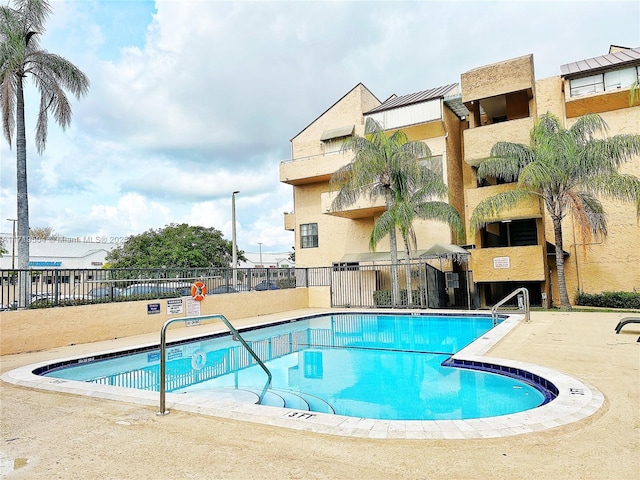
[[[187,302],[192,300],[188,297],[181,300],[183,313],[176,315],[167,314],[166,299],[2,312],[0,355],[153,332],[158,332],[159,338],[162,325],[167,319],[186,316]],[[149,308],[154,308],[149,306],[158,304],[158,313],[148,313]],[[238,318],[307,308],[308,304],[307,288],[241,292],[231,295],[209,295],[200,302],[200,314],[221,313],[233,321]],[[183,325],[177,323],[171,329],[186,328]]]

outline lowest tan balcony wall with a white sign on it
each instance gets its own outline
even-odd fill
[[[471,270],[476,282],[514,282],[545,280],[545,248],[478,248],[471,250]]]

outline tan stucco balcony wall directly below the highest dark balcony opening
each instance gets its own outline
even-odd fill
[[[463,132],[465,162],[471,166],[477,166],[482,159],[489,156],[491,148],[497,142],[529,145],[534,123],[534,118],[527,117],[465,130]]]

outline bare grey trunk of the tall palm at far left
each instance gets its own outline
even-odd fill
[[[27,138],[24,120],[24,91],[22,77],[18,76],[16,95],[16,172],[17,172],[17,214],[18,214],[18,306],[28,306],[29,297],[29,197],[27,195]]]

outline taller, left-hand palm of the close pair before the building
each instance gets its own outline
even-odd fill
[[[353,152],[350,163],[336,171],[329,182],[338,190],[331,208],[341,210],[356,202],[361,195],[372,201],[384,198],[386,210],[394,205],[400,190],[416,191],[423,178],[420,159],[431,156],[429,147],[423,142],[409,141],[407,135],[398,130],[387,136],[380,124],[372,118],[365,123],[365,137],[350,137],[342,147],[344,152]],[[391,253],[391,303],[398,305],[398,247],[396,229],[389,228]],[[377,242],[376,242],[377,243]]]

